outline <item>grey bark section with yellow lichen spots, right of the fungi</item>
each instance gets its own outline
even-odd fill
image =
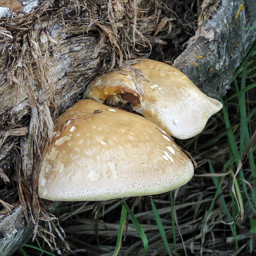
[[[200,22],[192,43],[175,60],[174,67],[208,96],[224,96],[234,70],[256,39],[255,29],[248,29],[255,21],[254,1],[222,0],[211,19]]]

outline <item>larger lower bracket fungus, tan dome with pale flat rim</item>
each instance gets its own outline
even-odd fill
[[[187,183],[190,159],[150,120],[81,100],[55,124],[42,161],[40,198],[109,200],[160,194]]]

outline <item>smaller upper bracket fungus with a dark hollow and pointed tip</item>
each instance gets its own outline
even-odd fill
[[[84,98],[111,106],[131,107],[180,139],[204,129],[207,120],[222,108],[218,100],[203,94],[182,72],[155,60],[138,59],[132,65],[144,78],[135,82],[132,72],[121,70],[97,77]]]

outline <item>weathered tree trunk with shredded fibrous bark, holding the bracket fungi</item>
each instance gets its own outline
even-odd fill
[[[32,237],[42,216],[37,176],[53,120],[96,75],[136,57],[172,63],[178,56],[174,66],[204,93],[225,95],[256,38],[248,29],[256,22],[254,0],[198,1],[200,15],[192,0],[152,2],[46,0],[25,13],[28,5],[16,1],[15,13],[0,18],[2,256]]]

